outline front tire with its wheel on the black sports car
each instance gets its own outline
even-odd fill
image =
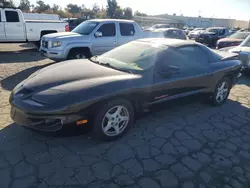
[[[116,140],[122,137],[133,123],[132,104],[125,99],[115,99],[101,106],[100,111],[94,117],[93,134],[98,140]]]

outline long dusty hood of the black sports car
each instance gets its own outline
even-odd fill
[[[34,101],[61,104],[102,95],[108,88],[134,85],[140,75],[121,72],[89,60],[71,60],[57,63],[32,74],[14,89],[14,95],[30,96]],[[19,89],[22,88],[22,89]]]

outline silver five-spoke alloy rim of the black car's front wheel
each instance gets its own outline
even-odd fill
[[[107,136],[121,134],[129,123],[129,112],[125,106],[119,105],[108,110],[102,120],[102,130]]]

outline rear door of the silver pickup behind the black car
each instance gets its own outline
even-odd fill
[[[119,46],[137,39],[135,26],[133,23],[120,22],[118,30],[119,30],[118,33]]]

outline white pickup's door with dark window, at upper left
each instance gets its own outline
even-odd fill
[[[7,41],[25,41],[24,23],[15,10],[5,10],[5,32]]]

